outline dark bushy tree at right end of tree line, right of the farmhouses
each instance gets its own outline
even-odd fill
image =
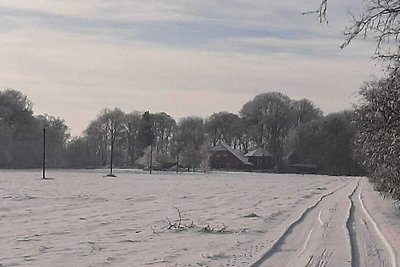
[[[290,150],[298,154],[301,163],[316,164],[324,174],[363,174],[353,153],[354,116],[345,111],[302,124],[288,139]]]

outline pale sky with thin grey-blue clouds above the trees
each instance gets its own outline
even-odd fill
[[[325,114],[379,75],[374,42],[341,50],[362,0],[0,0],[0,88],[79,135],[103,108],[175,119],[238,113],[257,94],[307,98]]]

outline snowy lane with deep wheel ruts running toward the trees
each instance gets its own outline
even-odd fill
[[[396,253],[364,204],[362,179],[321,196],[251,266],[390,266]]]

